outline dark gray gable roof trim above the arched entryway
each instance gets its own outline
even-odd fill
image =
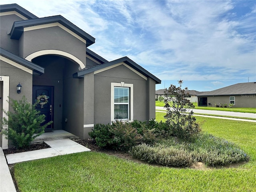
[[[88,33],[84,32],[82,29],[78,28],[76,25],[72,24],[70,21],[62,17],[61,15],[56,16],[50,16],[50,17],[44,17],[44,18],[36,18],[36,19],[30,19],[30,20],[24,20],[24,21],[16,21],[14,22],[11,30],[11,39],[20,39],[20,36],[23,33],[23,29],[25,27],[30,26],[37,26],[37,25],[43,25],[43,24],[50,24],[50,23],[60,23],[84,40],[86,40],[86,47],[92,45],[95,43],[95,38],[90,36]]]

